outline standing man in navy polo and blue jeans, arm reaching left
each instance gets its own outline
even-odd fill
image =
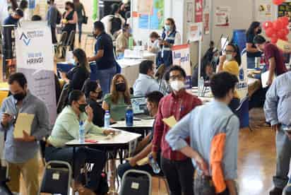
[[[100,21],[94,23],[95,56],[89,57],[88,61],[96,61],[99,72],[99,80],[104,94],[109,93],[113,76],[117,73],[117,62],[113,54],[112,38],[107,35],[104,25]]]

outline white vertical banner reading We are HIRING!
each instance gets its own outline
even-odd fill
[[[30,92],[44,101],[54,124],[57,103],[52,32],[45,22],[23,22],[15,34],[17,71],[25,74]]]

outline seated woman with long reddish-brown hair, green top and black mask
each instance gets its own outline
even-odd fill
[[[103,98],[103,110],[109,110],[111,122],[125,119],[126,108],[131,105],[129,85],[126,78],[117,74],[112,79],[111,93]]]

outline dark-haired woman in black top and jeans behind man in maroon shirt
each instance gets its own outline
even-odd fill
[[[254,37],[261,34],[261,23],[253,22],[251,23],[249,30],[247,30],[247,68],[255,68],[256,57],[261,57],[261,52],[254,45]]]

